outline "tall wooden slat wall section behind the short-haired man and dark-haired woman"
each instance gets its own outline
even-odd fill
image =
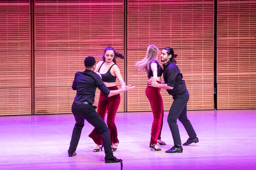
[[[35,114],[71,113],[75,73],[87,56],[99,62],[107,46],[124,52],[123,25],[122,0],[35,0]],[[124,76],[124,60],[117,65]],[[96,91],[94,105],[98,100]]]

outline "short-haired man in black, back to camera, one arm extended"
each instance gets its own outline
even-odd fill
[[[84,119],[86,119],[102,135],[102,142],[105,148],[105,163],[122,162],[122,159],[116,159],[113,156],[108,126],[95,111],[96,106],[93,106],[93,103],[97,87],[103,94],[110,97],[128,91],[134,88],[134,86],[128,85],[125,88],[110,91],[102,82],[101,77],[94,72],[96,68],[94,57],[86,57],[84,59],[84,66],[85,71],[76,72],[72,85],[73,90],[76,90],[76,97],[72,105],[72,113],[75,117],[76,124],[73,129],[68,155],[70,157],[76,155],[76,147],[81,136],[81,130],[84,127]]]

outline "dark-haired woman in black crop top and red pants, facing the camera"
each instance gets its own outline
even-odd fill
[[[125,82],[122,78],[118,66],[116,65],[117,57],[124,59],[125,56],[117,53],[113,47],[105,48],[102,61],[97,63],[95,69],[95,72],[99,72],[98,74],[102,77],[102,81],[109,88],[109,90],[118,89],[116,86],[116,78],[119,80],[121,88],[125,87]],[[117,149],[117,146],[119,144],[119,140],[117,138],[116,125],[114,121],[117,109],[120,104],[120,99],[120,94],[108,97],[100,92],[97,109],[97,112],[102,117],[102,119],[105,119],[106,113],[108,111],[107,125],[110,132],[113,151]],[[93,141],[97,144],[93,152],[99,152],[100,149],[102,150],[102,136],[99,134],[98,130],[93,129],[89,137],[92,138]]]

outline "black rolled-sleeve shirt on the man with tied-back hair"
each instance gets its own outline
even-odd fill
[[[186,91],[186,84],[182,78],[183,76],[180,73],[180,69],[171,60],[163,64],[164,82],[168,86],[173,87],[172,90],[166,89],[170,95],[174,96],[177,94],[182,94],[184,91]]]

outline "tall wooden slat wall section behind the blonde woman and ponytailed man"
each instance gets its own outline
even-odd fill
[[[213,109],[213,11],[213,0],[128,0],[128,84],[137,85],[128,92],[128,111],[151,111],[145,96],[147,77],[134,67],[148,45],[160,50],[170,46],[178,54],[177,65],[190,93],[188,109]],[[169,110],[172,97],[165,90],[161,94]]]

